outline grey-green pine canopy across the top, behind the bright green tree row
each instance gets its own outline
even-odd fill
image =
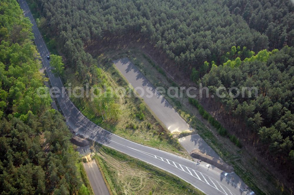
[[[122,36],[146,40],[173,60],[170,68],[186,73],[205,61],[225,62],[222,56],[232,46],[257,53],[293,46],[294,41],[290,1],[30,1],[41,9],[40,26],[49,26],[81,72],[93,73],[84,48],[106,37],[120,37],[114,42]]]

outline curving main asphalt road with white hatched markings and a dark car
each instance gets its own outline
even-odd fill
[[[51,72],[49,60],[46,55],[49,51],[46,48],[44,40],[36,26],[33,16],[26,4],[26,1],[19,0],[21,9],[24,15],[29,17],[33,24],[33,33],[35,36],[35,44],[39,50],[43,65],[48,74],[49,80],[53,87],[62,88],[63,84],[59,77],[55,77]],[[66,122],[76,132],[88,137],[89,139],[99,142],[103,145],[116,149],[120,152],[128,154],[134,158],[140,159],[144,162],[152,164],[160,169],[170,172],[181,179],[192,184],[205,194],[249,194],[248,191],[243,191],[243,184],[237,178],[232,181],[230,175],[220,174],[218,169],[212,169],[205,166],[205,164],[196,164],[188,159],[178,157],[174,154],[164,152],[155,148],[147,147],[126,140],[122,137],[114,135],[101,127],[89,121],[69,100],[69,97],[57,97],[61,110],[64,114]],[[240,186],[241,185],[241,186]]]

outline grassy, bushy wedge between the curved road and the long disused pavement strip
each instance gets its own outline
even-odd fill
[[[120,95],[108,97],[110,91],[108,87],[118,89],[123,87],[127,91],[133,89],[128,85],[123,76],[115,68],[110,58],[99,56],[98,59],[98,82],[93,85],[100,87],[103,92],[100,97],[91,100],[91,97],[76,98],[71,96],[71,100],[81,110],[89,120],[103,127],[104,129],[122,136],[131,141],[156,147],[168,152],[179,153],[188,157],[187,152],[179,144],[169,131],[161,125],[160,122],[152,115],[151,111],[145,105],[141,98],[131,95]],[[64,78],[71,87],[81,86],[76,80],[71,69],[66,70]],[[105,90],[106,88],[106,90]],[[98,93],[98,92],[97,92]],[[104,95],[106,93],[106,95]]]

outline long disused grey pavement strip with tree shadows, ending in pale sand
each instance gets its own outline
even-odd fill
[[[128,58],[116,60],[113,63],[171,133],[190,129],[186,121]]]

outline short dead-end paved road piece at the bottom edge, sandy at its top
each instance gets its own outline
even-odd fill
[[[95,195],[110,195],[103,176],[93,159],[83,164]]]

